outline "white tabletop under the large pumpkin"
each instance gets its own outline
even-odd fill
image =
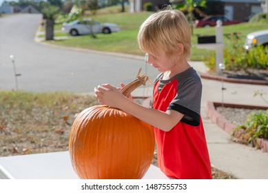
[[[69,152],[52,152],[0,157],[0,179],[79,179],[72,168]],[[143,179],[168,179],[150,165]]]

